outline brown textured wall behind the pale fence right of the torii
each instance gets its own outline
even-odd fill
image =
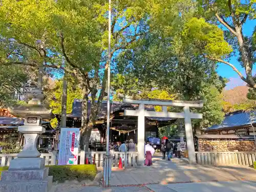
[[[221,139],[198,139],[199,152],[211,152],[214,148],[218,152],[251,152],[256,151],[254,141],[251,140],[221,140]]]

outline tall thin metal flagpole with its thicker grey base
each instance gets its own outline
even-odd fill
[[[109,142],[110,142],[110,64],[111,64],[111,0],[109,0],[109,57],[108,57],[108,111],[106,114],[106,155],[104,157],[103,165],[103,186],[111,186],[111,167],[112,159],[110,155]]]

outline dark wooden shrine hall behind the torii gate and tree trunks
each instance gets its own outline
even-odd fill
[[[91,102],[88,102],[88,118],[91,114]],[[111,102],[111,130],[110,140],[112,142],[133,139],[137,142],[137,121],[138,117],[124,116],[124,110],[136,110],[138,105],[123,104],[122,102]],[[154,106],[147,105],[146,111],[155,111]],[[102,102],[101,110],[97,116],[96,125],[91,133],[90,142],[104,142],[106,133],[106,101]],[[81,100],[74,99],[72,113],[67,114],[67,127],[81,127],[82,107]],[[61,115],[56,115],[58,122]],[[145,117],[145,139],[158,137],[158,127],[173,123],[172,118]]]

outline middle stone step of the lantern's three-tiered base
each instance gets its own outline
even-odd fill
[[[48,177],[49,167],[39,170],[6,170],[2,172],[2,182],[42,181]]]

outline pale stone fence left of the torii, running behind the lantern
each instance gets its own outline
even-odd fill
[[[103,156],[106,152],[84,152],[81,151],[78,154],[78,164],[86,164],[87,159],[90,164],[96,164],[97,167],[103,167]],[[0,164],[1,166],[9,166],[12,159],[17,158],[18,154],[0,154]],[[138,152],[113,152],[111,156],[113,157],[113,167],[118,167],[119,159],[122,158],[123,166],[135,166],[137,160]],[[56,165],[57,164],[57,153],[41,153],[41,158],[45,158],[46,165]],[[125,161],[126,160],[126,161]]]

